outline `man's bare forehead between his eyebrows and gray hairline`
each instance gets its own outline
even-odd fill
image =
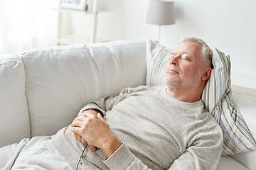
[[[185,41],[181,42],[178,46],[174,48],[172,53],[186,53],[188,55],[195,55],[196,57],[200,57],[200,52],[202,50],[202,46],[199,45],[196,42],[191,42],[191,41]]]

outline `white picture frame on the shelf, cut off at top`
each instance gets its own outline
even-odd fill
[[[60,0],[60,8],[87,11],[88,0]]]

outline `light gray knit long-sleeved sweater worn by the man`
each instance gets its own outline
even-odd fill
[[[216,169],[223,134],[202,101],[172,98],[165,86],[127,88],[81,109],[105,113],[110,130],[123,142],[108,159],[101,149],[85,149],[80,169]],[[80,111],[80,112],[81,112]],[[82,149],[70,126],[53,135],[58,152],[75,169]]]

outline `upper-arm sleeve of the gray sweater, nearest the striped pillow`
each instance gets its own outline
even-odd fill
[[[190,147],[176,159],[169,170],[216,169],[223,148],[223,133],[219,125],[194,137]]]

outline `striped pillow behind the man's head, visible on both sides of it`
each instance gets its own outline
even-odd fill
[[[147,85],[164,85],[165,65],[171,50],[159,42],[147,40]],[[223,130],[223,155],[256,150],[256,143],[240,111],[233,103],[230,87],[230,57],[213,50],[213,71],[203,89],[202,101],[206,111]]]

